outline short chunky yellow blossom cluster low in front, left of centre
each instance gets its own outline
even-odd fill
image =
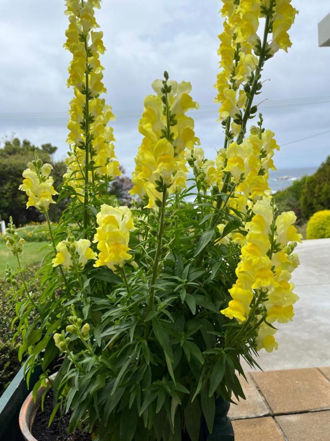
[[[134,228],[132,212],[126,207],[112,207],[101,205],[101,210],[96,216],[99,225],[94,236],[94,243],[100,251],[95,267],[106,265],[111,270],[116,266],[122,267],[126,260],[132,258],[128,254],[130,231]]]

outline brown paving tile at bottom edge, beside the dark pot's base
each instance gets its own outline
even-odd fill
[[[236,419],[235,421],[232,421],[232,423],[235,433],[235,441],[284,440],[272,417]]]

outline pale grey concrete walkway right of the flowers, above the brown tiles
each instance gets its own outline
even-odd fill
[[[260,351],[263,370],[330,366],[330,239],[303,241],[296,252],[300,266],[292,280],[300,300],[293,321],[275,325],[278,350]]]

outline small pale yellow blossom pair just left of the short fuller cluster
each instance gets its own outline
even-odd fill
[[[74,266],[72,259],[77,255],[77,264],[85,267],[88,260],[96,260],[96,253],[90,248],[88,239],[78,241],[62,241],[56,245],[56,257],[53,259],[53,267],[62,265],[66,270]]]

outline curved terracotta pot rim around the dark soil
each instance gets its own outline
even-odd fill
[[[56,373],[50,376],[51,379],[55,378]],[[27,395],[27,398],[25,399],[20,416],[19,416],[19,423],[20,423],[20,429],[22,432],[22,436],[25,441],[38,441],[34,438],[34,436],[31,433],[32,425],[34,422],[34,418],[37,415],[37,412],[39,410],[41,399],[43,397],[43,394],[45,392],[46,388],[41,386],[38,389],[37,395],[36,395],[36,402],[33,401],[32,392],[30,392]]]

